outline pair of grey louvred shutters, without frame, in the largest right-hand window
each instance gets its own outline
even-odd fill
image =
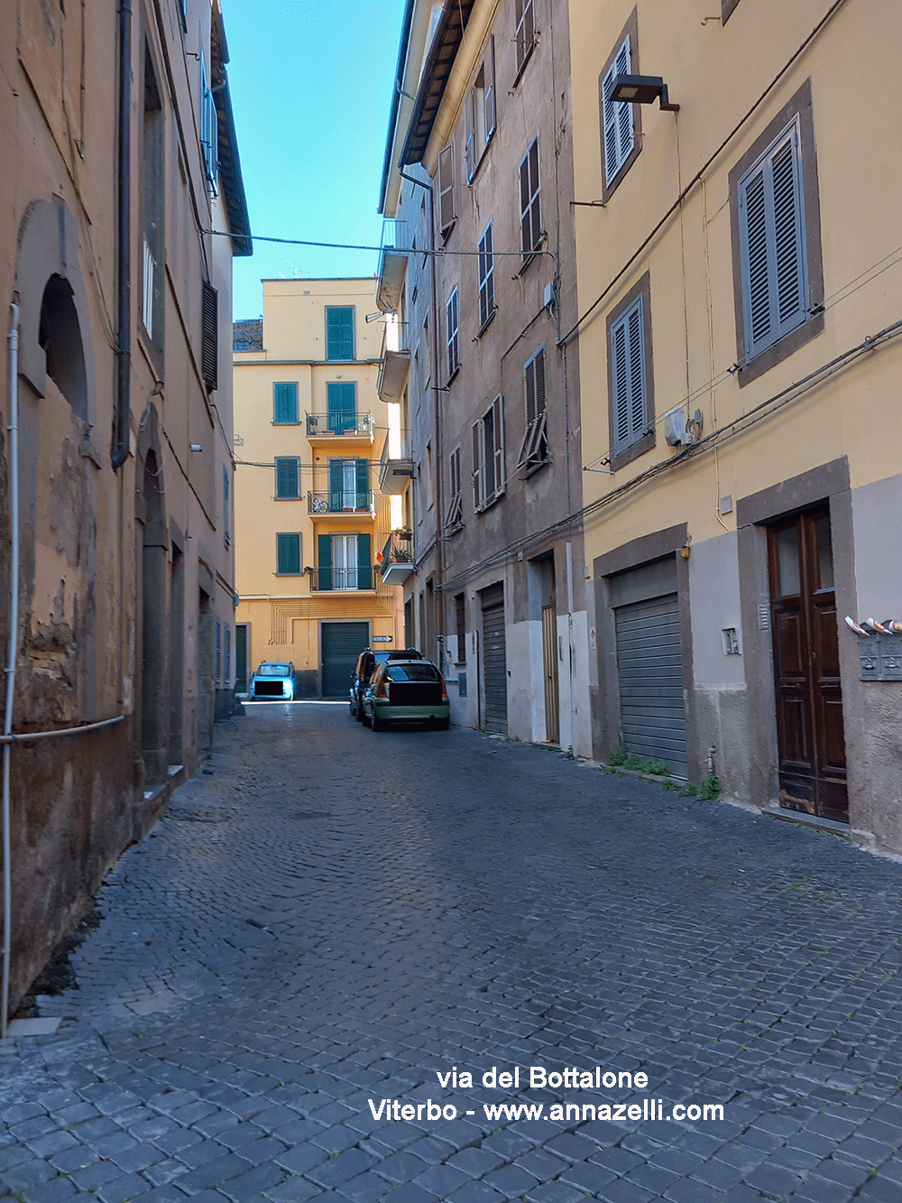
[[[738,184],[746,358],[808,316],[799,128],[793,125]]]

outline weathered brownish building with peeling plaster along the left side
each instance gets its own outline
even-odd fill
[[[227,338],[250,241],[218,0],[2,14],[13,1012],[231,699]]]

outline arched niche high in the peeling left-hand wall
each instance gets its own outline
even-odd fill
[[[78,225],[60,197],[32,201],[19,225],[16,294],[19,374],[38,397],[47,377],[84,425],[82,454],[101,466],[90,309],[78,262]]]

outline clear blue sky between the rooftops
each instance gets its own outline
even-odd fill
[[[376,245],[404,0],[222,0],[229,84],[254,235]],[[254,242],[235,260],[235,316],[260,280],[372,275],[375,251]]]

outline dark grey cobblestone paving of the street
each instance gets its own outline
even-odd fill
[[[475,731],[248,709],[107,878],[59,1032],[0,1045],[7,1203],[902,1199],[902,866]]]

